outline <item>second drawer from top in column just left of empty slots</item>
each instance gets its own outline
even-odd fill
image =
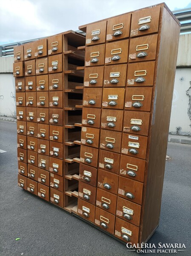
[[[58,73],[63,71],[63,55],[57,54],[48,57],[48,73]]]

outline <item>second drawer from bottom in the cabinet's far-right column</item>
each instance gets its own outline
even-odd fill
[[[136,226],[140,225],[141,206],[117,197],[116,216]]]

